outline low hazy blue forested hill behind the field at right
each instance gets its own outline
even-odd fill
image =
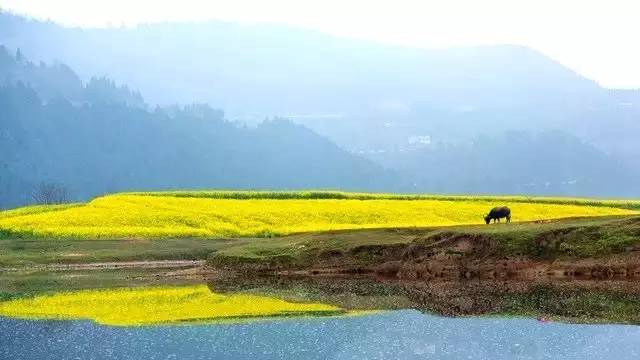
[[[605,154],[561,131],[511,131],[371,157],[436,193],[640,196],[637,160]]]

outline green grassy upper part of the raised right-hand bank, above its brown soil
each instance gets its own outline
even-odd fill
[[[396,260],[394,248],[428,247],[443,239],[484,241],[494,257],[532,259],[602,257],[640,246],[640,217],[573,218],[500,225],[390,228],[333,231],[269,239],[245,239],[218,249],[214,265],[271,264],[310,266],[323,259],[342,259],[360,265]],[[387,250],[385,250],[387,249]]]

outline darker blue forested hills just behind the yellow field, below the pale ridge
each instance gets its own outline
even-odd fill
[[[633,161],[561,131],[417,137],[366,160],[290,120],[247,127],[206,104],[146,105],[125,85],[83,82],[20,51],[0,47],[0,59],[2,207],[42,202],[43,186],[65,201],[184,188],[638,196]]]

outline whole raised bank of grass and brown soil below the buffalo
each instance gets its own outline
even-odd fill
[[[300,234],[231,246],[213,253],[208,264],[422,281],[633,279],[640,277],[640,217]]]

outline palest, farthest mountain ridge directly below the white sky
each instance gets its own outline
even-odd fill
[[[640,155],[639,92],[604,89],[521,46],[423,50],[216,21],[80,29],[6,13],[0,43],[85,80],[107,75],[151,104],[207,102],[252,124],[287,117],[364,154],[413,136],[561,130]]]

